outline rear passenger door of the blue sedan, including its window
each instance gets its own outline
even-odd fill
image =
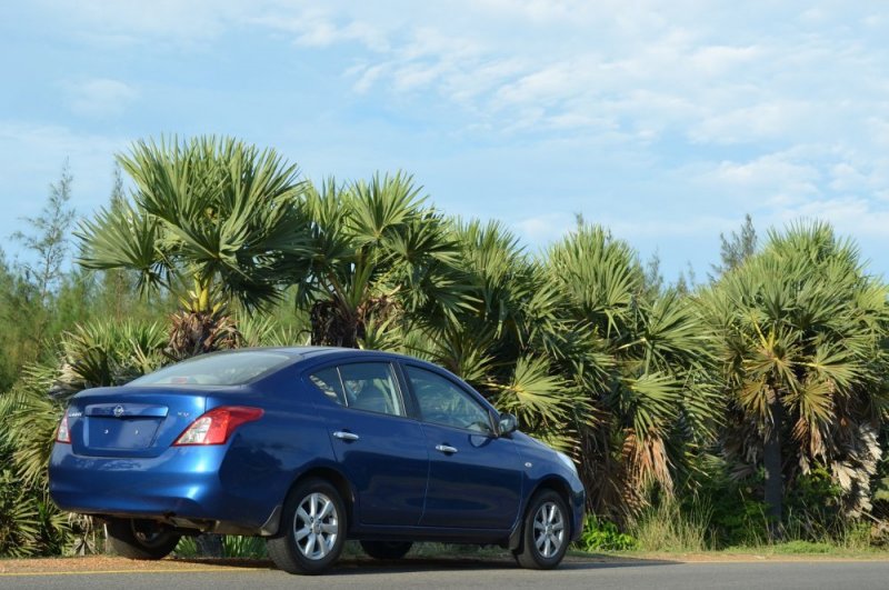
[[[337,460],[356,488],[360,524],[417,526],[423,509],[429,456],[422,428],[408,418],[389,362],[341,363],[312,370],[323,396]]]

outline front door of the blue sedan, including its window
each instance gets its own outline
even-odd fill
[[[498,438],[487,407],[449,377],[404,364],[430,456],[422,526],[508,529],[521,500],[522,462]]]

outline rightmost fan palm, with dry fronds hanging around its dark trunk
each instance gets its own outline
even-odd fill
[[[771,532],[785,484],[821,466],[849,516],[869,508],[886,417],[887,288],[827,223],[771,231],[702,297],[729,402],[723,448],[765,467]]]

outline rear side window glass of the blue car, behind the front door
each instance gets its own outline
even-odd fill
[[[340,406],[391,416],[407,413],[388,362],[330,367],[311,373],[309,380]]]

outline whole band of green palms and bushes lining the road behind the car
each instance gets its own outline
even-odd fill
[[[581,550],[889,542],[889,287],[827,222],[760,239],[748,217],[706,281],[670,282],[582,218],[530,253],[403,172],[312,183],[229,138],[139,141],[118,164],[83,219],[63,169],[11,237],[21,254],[0,250],[0,556],[103,548],[47,493],[72,394],[308,343],[438,362],[568,452],[589,494]]]

